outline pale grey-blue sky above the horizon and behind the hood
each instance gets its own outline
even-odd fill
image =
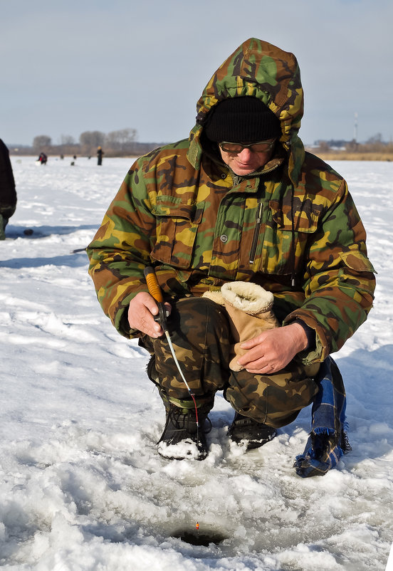
[[[391,0],[0,0],[0,138],[137,129],[174,142],[214,70],[251,36],[292,51],[300,137],[393,137]]]

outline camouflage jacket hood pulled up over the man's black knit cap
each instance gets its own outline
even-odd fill
[[[297,182],[305,152],[298,137],[303,117],[303,88],[293,53],[250,38],[219,67],[196,103],[196,125],[189,135],[189,162],[199,168],[201,134],[209,112],[224,99],[252,96],[268,106],[281,122],[280,142],[289,153],[288,176]]]

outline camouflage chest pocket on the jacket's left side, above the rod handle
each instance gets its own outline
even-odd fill
[[[182,204],[177,197],[159,197],[153,214],[157,228],[152,258],[174,268],[189,268],[203,204]]]

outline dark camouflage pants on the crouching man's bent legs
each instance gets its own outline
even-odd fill
[[[224,391],[231,406],[246,417],[279,428],[292,422],[313,402],[318,384],[300,362],[293,360],[276,374],[251,374],[229,369],[233,340],[229,316],[222,305],[206,298],[184,298],[172,305],[169,335],[184,377],[205,412],[214,394]],[[194,406],[180,377],[165,336],[143,335],[140,345],[152,355],[148,374],[159,386],[164,402]]]

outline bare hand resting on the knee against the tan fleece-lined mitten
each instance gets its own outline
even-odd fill
[[[238,362],[253,374],[271,374],[283,369],[305,347],[305,330],[298,323],[291,323],[241,343],[241,348],[247,352]]]

